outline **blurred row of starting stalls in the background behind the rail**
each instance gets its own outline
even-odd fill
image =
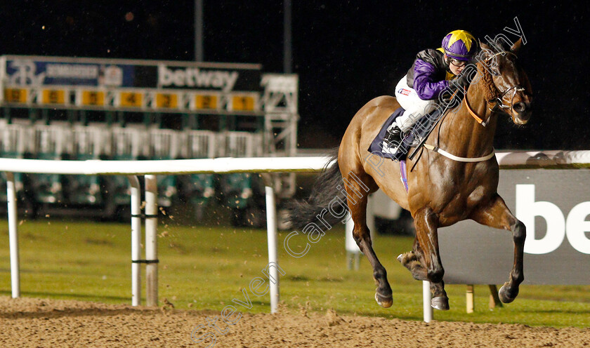
[[[232,83],[171,77],[195,69],[232,76]],[[262,74],[260,65],[5,55],[0,76],[0,156],[136,161],[296,153],[297,76]],[[294,194],[294,175],[273,179],[277,196]],[[15,173],[15,180],[27,203],[19,206],[34,210],[96,207],[112,218],[129,206],[122,175]],[[189,203],[199,216],[216,201],[232,210],[235,225],[259,225],[264,194],[256,174],[157,180],[161,207]]]

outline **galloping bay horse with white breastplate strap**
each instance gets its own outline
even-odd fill
[[[512,232],[513,267],[509,281],[499,290],[499,299],[509,303],[518,295],[524,280],[526,228],[497,193],[499,166],[493,140],[501,115],[509,116],[517,126],[530,120],[532,90],[517,60],[521,46],[521,39],[509,48],[499,43],[480,43],[481,60],[474,65],[476,77],[464,92],[461,104],[441,117],[428,135],[426,149],[422,148],[417,158],[407,159],[407,166],[367,151],[384,121],[400,107],[399,103],[387,95],[367,102],[350,121],[335,162],[317,178],[308,201],[291,206],[291,221],[296,227],[318,217],[328,224],[336,223],[342,220],[341,214],[322,215],[321,211],[335,196],[346,196],[354,222],[353,237],[372,266],[375,300],[381,307],[391,307],[393,296],[386,269],[372,248],[366,223],[367,196],[378,189],[409,210],[414,218],[416,236],[412,250],[399,255],[398,261],[414,279],[431,283],[433,308],[449,309],[438,228],[466,219]],[[407,192],[400,180],[400,166],[407,174]]]

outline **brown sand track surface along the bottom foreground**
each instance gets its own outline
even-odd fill
[[[237,314],[237,313],[236,313]],[[532,328],[340,316],[242,314],[225,335],[191,340],[219,312],[0,297],[0,347],[590,347],[590,328]],[[234,317],[235,318],[235,317]],[[206,327],[202,333],[214,328]]]

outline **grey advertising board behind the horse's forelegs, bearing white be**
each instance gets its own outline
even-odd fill
[[[590,172],[500,170],[498,193],[527,227],[525,284],[590,284]],[[439,230],[445,282],[501,284],[512,233],[471,220]]]

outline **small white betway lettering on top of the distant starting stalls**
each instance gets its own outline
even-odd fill
[[[232,91],[237,81],[237,72],[223,70],[201,70],[195,68],[169,69],[164,65],[158,67],[159,86],[216,88]]]

